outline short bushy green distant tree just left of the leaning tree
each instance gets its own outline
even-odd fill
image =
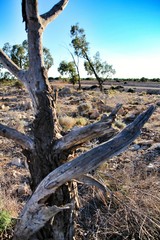
[[[74,85],[78,81],[78,76],[73,62],[62,61],[58,71],[61,75],[69,75],[69,81]]]

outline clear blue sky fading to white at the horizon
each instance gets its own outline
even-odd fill
[[[39,11],[48,11],[58,0],[39,0]],[[0,48],[27,38],[21,17],[21,0],[0,2]],[[54,58],[50,76],[58,76],[62,60],[71,61],[70,27],[84,28],[90,56],[97,51],[116,70],[114,77],[160,77],[160,0],[70,0],[44,32],[43,43]],[[85,76],[83,69],[82,76]]]

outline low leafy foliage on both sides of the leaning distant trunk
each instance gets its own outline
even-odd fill
[[[94,67],[96,73],[98,74],[98,76],[100,77],[100,85],[103,85],[104,81],[108,78],[111,78],[113,74],[115,74],[115,70],[113,69],[112,65],[109,65],[106,61],[102,61],[100,58],[100,53],[97,52],[94,57],[93,57],[93,61],[92,62],[92,66]],[[91,65],[89,64],[88,61],[84,62],[84,67],[85,70],[87,71],[88,75],[93,75],[93,68],[91,67]]]

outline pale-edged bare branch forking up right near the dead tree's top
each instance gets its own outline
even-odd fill
[[[47,26],[51,21],[58,17],[58,15],[64,10],[67,6],[69,0],[61,0],[53,6],[48,12],[41,15],[42,24],[44,27]]]

